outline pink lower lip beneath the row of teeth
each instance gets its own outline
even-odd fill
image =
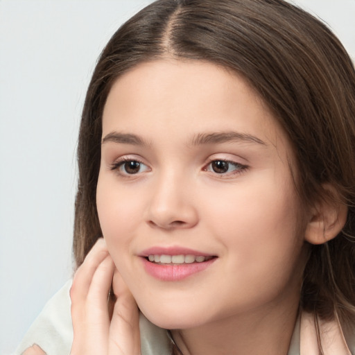
[[[162,281],[179,281],[197,272],[206,270],[217,258],[202,261],[202,263],[182,263],[175,265],[160,265],[141,258],[149,275]]]

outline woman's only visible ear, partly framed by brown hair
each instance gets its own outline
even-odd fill
[[[327,196],[311,208],[304,238],[311,244],[323,244],[334,239],[347,221],[347,205],[340,201],[334,187],[324,185]]]

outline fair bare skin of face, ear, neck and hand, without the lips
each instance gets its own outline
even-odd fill
[[[71,355],[141,354],[137,305],[173,329],[184,355],[287,354],[304,242],[334,238],[347,207],[300,203],[292,148],[248,84],[207,62],[141,64],[110,91],[101,157],[104,238],[73,277]],[[226,171],[216,169],[221,161]],[[152,246],[216,258],[167,282],[142,267],[142,250]],[[34,345],[24,354],[45,353]]]

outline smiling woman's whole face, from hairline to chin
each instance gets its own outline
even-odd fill
[[[97,208],[149,320],[184,329],[298,302],[304,241],[290,162],[275,118],[234,73],[157,60],[116,81]]]

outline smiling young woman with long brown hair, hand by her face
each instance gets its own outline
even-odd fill
[[[58,327],[49,347],[33,340],[72,355],[355,354],[354,112],[349,56],[289,3],[139,12],[83,110],[78,270],[52,304],[69,309],[71,287],[73,341]]]

